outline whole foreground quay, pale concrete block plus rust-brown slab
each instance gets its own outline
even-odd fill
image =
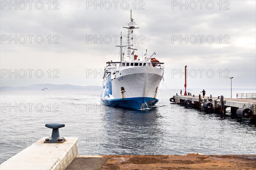
[[[1,170],[255,170],[256,155],[78,156],[78,138],[40,140],[0,165]]]

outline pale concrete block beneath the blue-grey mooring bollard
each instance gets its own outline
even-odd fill
[[[0,170],[64,170],[78,156],[78,138],[47,144],[45,138],[0,164]]]

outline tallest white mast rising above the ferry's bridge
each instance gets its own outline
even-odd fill
[[[128,50],[127,50],[127,57],[129,58],[129,61],[131,61],[134,58],[134,52],[137,49],[134,49],[133,44],[134,44],[134,34],[133,31],[134,29],[138,29],[139,27],[135,28],[135,22],[131,18],[131,21],[128,23],[128,27],[123,27],[128,29],[128,34],[127,34],[127,45],[128,45]],[[132,52],[131,52],[132,49]]]

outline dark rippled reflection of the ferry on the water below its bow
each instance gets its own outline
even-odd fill
[[[109,137],[105,140],[104,149],[108,153],[132,155],[154,154],[163,144],[159,109],[122,109],[108,107],[103,120],[104,129]],[[157,151],[159,153],[159,151]]]

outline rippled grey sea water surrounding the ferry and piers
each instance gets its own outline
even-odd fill
[[[131,110],[101,105],[97,90],[1,91],[0,163],[50,136],[45,124],[55,122],[66,125],[61,136],[79,138],[79,155],[256,154],[255,124],[171,104],[174,94],[160,90],[156,107]]]

